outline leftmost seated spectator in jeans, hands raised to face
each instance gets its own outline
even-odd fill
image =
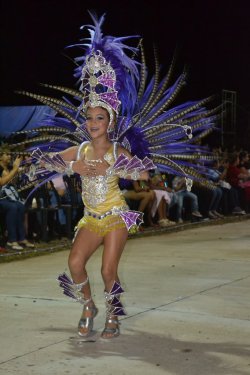
[[[16,176],[21,158],[17,157],[10,167],[11,156],[7,151],[0,154],[0,209],[5,217],[7,229],[7,247],[12,250],[23,250],[24,247],[34,247],[25,238],[25,206],[18,192],[10,184]]]

